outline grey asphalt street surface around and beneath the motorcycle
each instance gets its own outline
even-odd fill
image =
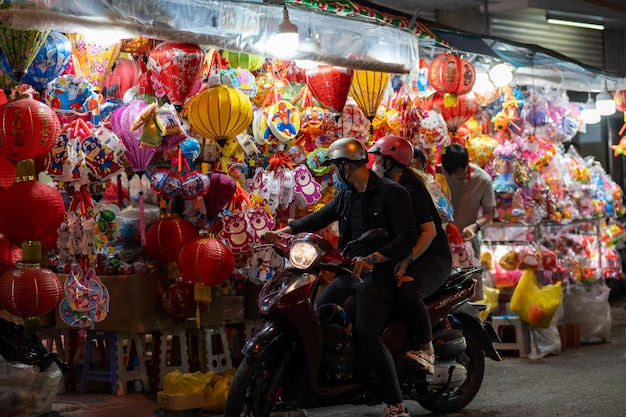
[[[486,359],[485,378],[477,397],[465,409],[433,414],[416,402],[407,403],[412,417],[612,417],[626,415],[626,303],[612,307],[613,327],[606,342],[583,343],[541,359],[503,353],[504,360]],[[156,393],[114,397],[58,394],[46,417],[159,416]],[[379,417],[383,405],[337,406],[308,410],[309,417]],[[203,417],[214,416],[202,414]],[[293,417],[297,414],[292,413]],[[278,416],[277,416],[278,417]]]

